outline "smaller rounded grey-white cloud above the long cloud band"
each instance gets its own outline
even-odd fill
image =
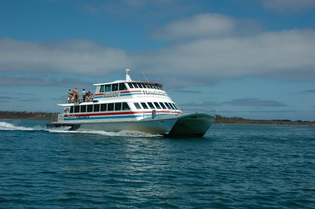
[[[197,14],[169,22],[157,29],[151,36],[163,40],[222,36],[230,34],[235,26],[236,20],[224,14]]]

